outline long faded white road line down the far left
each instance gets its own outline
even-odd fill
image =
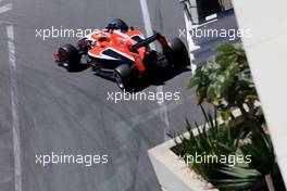
[[[15,182],[15,191],[22,191],[20,123],[17,115],[16,58],[15,58],[13,25],[9,25],[7,27],[7,35],[8,35],[9,63],[10,63],[11,110],[12,110],[13,151],[14,151],[14,182]]]

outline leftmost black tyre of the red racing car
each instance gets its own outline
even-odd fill
[[[65,67],[71,71],[75,69],[80,64],[78,50],[72,44],[64,44],[58,51],[60,63],[67,64]]]

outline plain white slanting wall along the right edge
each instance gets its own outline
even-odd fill
[[[287,0],[234,0],[253,78],[287,183]]]

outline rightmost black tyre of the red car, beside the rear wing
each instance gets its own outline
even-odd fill
[[[171,62],[174,66],[185,68],[190,60],[185,43],[179,38],[173,38],[169,41],[171,48]]]

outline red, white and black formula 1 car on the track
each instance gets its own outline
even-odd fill
[[[154,41],[161,44],[162,51],[150,49],[149,44]],[[135,79],[155,72],[155,68],[169,65],[183,69],[189,64],[187,49],[180,39],[167,42],[159,33],[145,38],[140,30],[128,27],[120,18],[79,39],[76,46],[60,47],[54,54],[54,62],[67,71],[79,67],[83,59],[92,71],[109,75],[126,91],[137,86]]]

